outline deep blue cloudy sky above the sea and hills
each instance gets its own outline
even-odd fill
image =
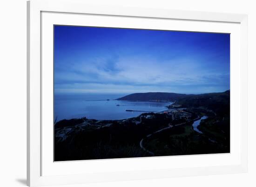
[[[229,34],[54,26],[55,93],[229,89]]]

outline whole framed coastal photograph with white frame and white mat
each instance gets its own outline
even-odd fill
[[[247,15],[27,2],[27,184],[247,172]]]

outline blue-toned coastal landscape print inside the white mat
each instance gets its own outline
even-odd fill
[[[230,153],[230,35],[54,25],[54,161]]]

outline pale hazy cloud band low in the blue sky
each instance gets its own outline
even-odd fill
[[[201,66],[201,62],[186,58],[162,62],[138,56],[97,58],[56,72],[55,87],[62,92],[171,92],[175,87],[218,86],[229,78],[229,74]]]

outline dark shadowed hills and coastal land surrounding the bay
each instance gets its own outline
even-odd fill
[[[139,94],[140,95],[140,94]],[[155,96],[154,96],[155,95]],[[127,97],[147,100],[168,100],[175,103],[167,112],[144,113],[126,120],[61,120],[54,125],[54,160],[89,160],[213,154],[230,152],[229,91],[184,95],[176,93],[146,93]],[[136,96],[136,97],[135,97]],[[179,109],[175,106],[183,107]],[[193,120],[201,116],[193,129]],[[163,130],[162,130],[163,129]],[[143,140],[143,147],[140,142]]]

